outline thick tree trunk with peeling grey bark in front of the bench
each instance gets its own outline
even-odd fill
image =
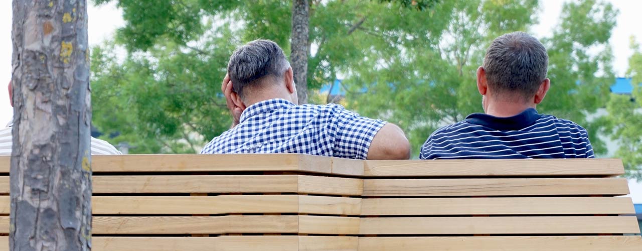
[[[13,0],[10,250],[91,250],[86,0]]]

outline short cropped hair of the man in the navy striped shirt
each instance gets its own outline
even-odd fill
[[[546,79],[548,55],[539,40],[516,31],[492,41],[482,67],[488,85],[498,94],[531,98]]]

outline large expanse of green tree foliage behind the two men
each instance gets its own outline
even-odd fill
[[[119,133],[112,142],[137,146],[132,152],[190,152],[227,130],[219,87],[236,46],[263,38],[290,51],[289,1],[114,1],[126,26],[116,45],[92,53],[94,123],[107,134]],[[343,78],[343,103],[400,125],[415,154],[438,126],[482,112],[475,71],[485,48],[503,33],[528,31],[539,10],[537,0],[433,3],[333,0],[310,6],[308,88]],[[585,117],[603,107],[613,83],[607,40],[616,13],[602,2],[567,3],[557,29],[541,38],[552,87],[539,110],[574,119],[591,135],[604,128],[603,120]],[[114,51],[121,46],[128,52],[118,60]],[[602,153],[600,141],[592,140]]]

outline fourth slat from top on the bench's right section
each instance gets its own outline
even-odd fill
[[[361,234],[639,233],[634,216],[361,218]]]

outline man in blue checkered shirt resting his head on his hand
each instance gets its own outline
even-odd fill
[[[221,90],[234,123],[201,153],[304,153],[349,159],[408,159],[396,125],[341,105],[297,105],[292,68],[270,40],[236,49]]]

